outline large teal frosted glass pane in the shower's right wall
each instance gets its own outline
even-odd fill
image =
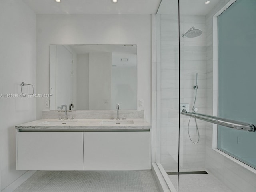
[[[239,13],[239,14],[237,14]],[[256,1],[218,16],[218,116],[256,123]],[[256,132],[218,126],[218,149],[256,169]]]

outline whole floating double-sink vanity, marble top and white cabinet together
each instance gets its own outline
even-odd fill
[[[41,119],[16,126],[17,170],[150,169],[144,119]]]

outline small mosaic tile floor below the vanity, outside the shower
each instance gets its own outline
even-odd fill
[[[159,192],[151,170],[37,171],[14,192]]]

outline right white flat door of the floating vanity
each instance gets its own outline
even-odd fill
[[[85,170],[150,168],[150,132],[84,132]]]

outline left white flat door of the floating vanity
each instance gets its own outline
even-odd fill
[[[82,132],[17,132],[17,170],[84,170]]]

